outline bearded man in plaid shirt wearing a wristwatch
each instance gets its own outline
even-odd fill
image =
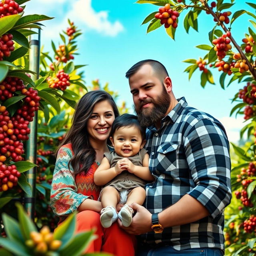
[[[156,180],[146,185],[145,208],[132,204],[136,215],[123,228],[141,234],[138,255],[223,255],[223,211],[231,199],[224,127],[185,98],[176,100],[160,62],[140,61],[126,77],[138,119],[148,127],[145,148]]]

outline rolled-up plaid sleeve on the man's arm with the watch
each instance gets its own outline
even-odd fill
[[[197,199],[215,218],[231,200],[231,163],[226,132],[220,123],[201,119],[184,137],[185,154],[195,184],[187,194]]]

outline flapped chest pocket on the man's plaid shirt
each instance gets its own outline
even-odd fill
[[[177,168],[176,150],[178,148],[177,142],[163,143],[157,149],[157,166],[156,170],[159,172],[170,172]]]

